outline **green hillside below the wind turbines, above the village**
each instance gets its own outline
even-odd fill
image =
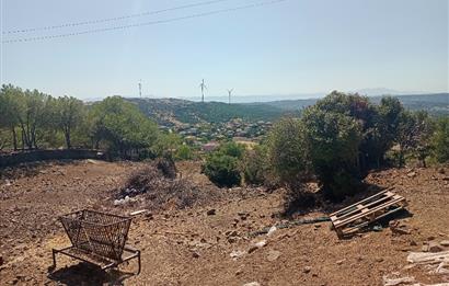
[[[287,113],[266,104],[227,104],[222,102],[193,102],[180,99],[127,99],[141,112],[162,125],[176,123],[219,123],[239,117],[244,121],[274,121]]]

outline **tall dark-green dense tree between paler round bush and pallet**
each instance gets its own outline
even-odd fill
[[[342,198],[360,185],[360,123],[350,116],[309,107],[302,115],[304,146],[314,173],[330,197]]]

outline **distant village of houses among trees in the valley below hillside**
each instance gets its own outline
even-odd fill
[[[185,144],[209,152],[223,140],[253,146],[265,138],[272,126],[272,122],[244,122],[241,118],[234,118],[226,123],[181,124],[171,127],[162,125],[160,128],[175,131]]]

